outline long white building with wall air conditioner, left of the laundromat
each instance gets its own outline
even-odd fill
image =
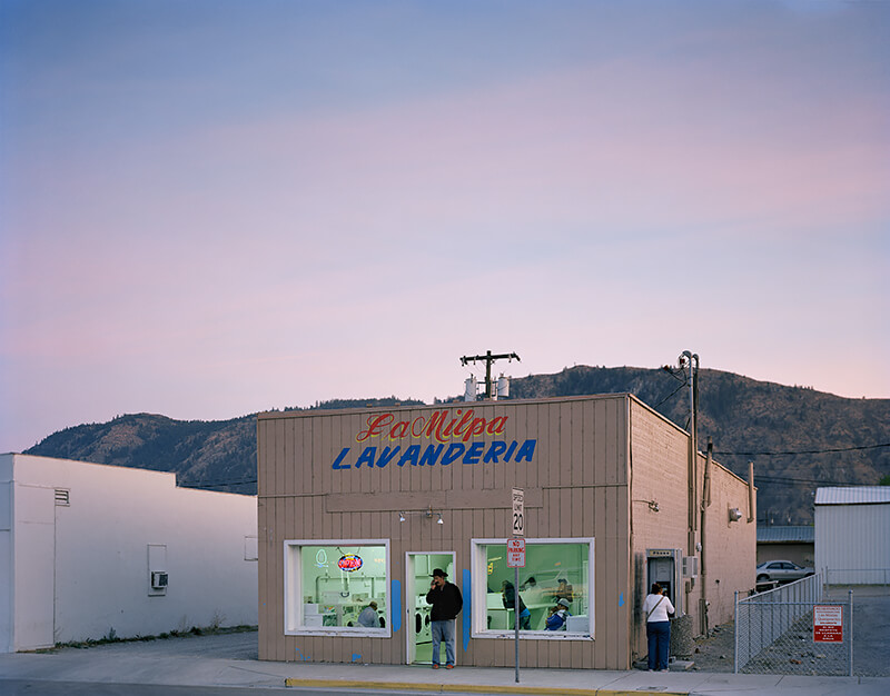
[[[0,455],[0,652],[257,624],[257,499]]]

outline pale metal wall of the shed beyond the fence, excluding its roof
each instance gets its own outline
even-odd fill
[[[842,585],[890,577],[890,505],[817,505],[815,569]],[[881,571],[883,570],[883,571]]]

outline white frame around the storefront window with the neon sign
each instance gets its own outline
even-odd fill
[[[386,566],[384,581],[386,598],[386,627],[366,628],[365,626],[304,626],[303,607],[303,563],[304,546],[383,546]],[[393,635],[392,616],[392,559],[389,539],[285,539],[284,541],[284,605],[286,636],[363,636],[372,638],[389,638]]]

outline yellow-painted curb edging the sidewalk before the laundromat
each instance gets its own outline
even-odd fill
[[[285,686],[304,688],[358,688],[425,692],[427,694],[528,694],[541,696],[689,696],[690,692],[650,692],[610,688],[570,688],[552,686],[481,686],[477,684],[428,684],[409,682],[357,682],[352,679],[299,679],[289,677]]]

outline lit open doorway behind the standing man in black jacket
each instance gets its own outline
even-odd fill
[[[407,630],[407,664],[433,664],[433,635],[429,628],[429,605],[426,593],[434,568],[442,568],[448,574],[448,581],[454,583],[454,551],[425,554],[408,551],[405,554],[405,627]],[[456,584],[456,583],[455,583]],[[445,664],[445,645],[439,647],[439,663]]]

